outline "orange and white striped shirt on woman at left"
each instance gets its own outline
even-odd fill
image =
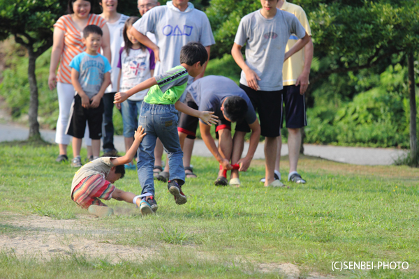
[[[106,24],[106,20],[99,15],[89,14],[87,25],[97,25],[103,28]],[[60,63],[57,73],[57,82],[71,84],[71,68],[68,66],[73,58],[86,50],[86,47],[82,43],[83,32],[78,31],[73,22],[71,15],[63,15],[54,27],[64,31],[64,48],[61,52]]]

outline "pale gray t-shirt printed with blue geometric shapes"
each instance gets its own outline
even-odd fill
[[[171,68],[180,65],[180,50],[189,42],[200,42],[205,47],[214,45],[210,20],[207,15],[189,7],[184,12],[168,1],[165,6],[149,10],[140,20],[133,24],[140,33],[154,33],[159,46],[159,58],[154,76],[161,75]]]

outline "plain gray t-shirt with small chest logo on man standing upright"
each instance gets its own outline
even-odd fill
[[[246,43],[246,63],[260,77],[261,91],[282,89],[285,47],[292,34],[303,38],[305,29],[295,15],[284,10],[277,9],[277,14],[269,20],[256,10],[240,21],[234,42],[241,46]],[[243,71],[240,83],[247,85]]]

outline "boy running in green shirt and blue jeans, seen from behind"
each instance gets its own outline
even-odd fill
[[[175,196],[176,204],[185,204],[186,195],[182,192],[185,183],[185,171],[183,167],[183,152],[180,148],[179,135],[177,134],[177,111],[202,119],[208,125],[216,123],[218,116],[214,112],[200,112],[193,110],[184,103],[179,102],[191,77],[196,77],[203,72],[208,53],[200,43],[188,43],[180,52],[180,65],[168,70],[162,75],[149,78],[134,86],[126,92],[115,94],[114,103],[122,103],[129,96],[138,91],[151,87],[145,96],[140,110],[140,125],[145,128],[147,135],[140,144],[138,150],[138,180],[142,186],[141,195],[145,203],[140,206],[143,215],[156,212],[157,203],[154,199],[154,147],[157,137],[163,143],[168,153],[170,167],[170,179],[168,189]]]

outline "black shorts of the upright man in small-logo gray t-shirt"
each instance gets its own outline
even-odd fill
[[[256,91],[243,84],[240,84],[240,88],[247,93],[247,96],[249,96],[249,99],[251,100],[251,104],[259,114],[260,135],[263,135],[264,137],[278,137],[281,135],[281,91]],[[240,126],[241,125],[242,123],[240,123]]]

